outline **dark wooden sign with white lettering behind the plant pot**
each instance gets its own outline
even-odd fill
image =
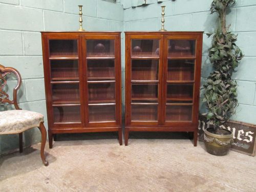
[[[209,127],[205,116],[199,116],[199,140],[204,141],[204,130]],[[255,156],[256,151],[256,125],[241,121],[227,121],[222,128],[233,133],[231,150],[250,156]]]

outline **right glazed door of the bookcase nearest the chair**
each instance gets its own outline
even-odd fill
[[[113,35],[83,39],[86,123],[90,126],[120,123],[119,40]]]

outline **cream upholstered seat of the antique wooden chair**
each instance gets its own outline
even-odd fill
[[[18,134],[32,127],[40,126],[44,116],[26,110],[10,110],[0,112],[0,134]]]

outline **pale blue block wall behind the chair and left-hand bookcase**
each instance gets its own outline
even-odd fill
[[[24,110],[47,114],[40,31],[76,31],[78,6],[83,28],[122,31],[123,8],[101,0],[0,0],[0,63],[14,67],[23,78],[19,103]],[[37,128],[24,133],[24,146],[40,142]],[[18,135],[0,136],[0,154],[18,148]]]

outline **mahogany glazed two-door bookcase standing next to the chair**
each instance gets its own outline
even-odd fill
[[[41,32],[49,146],[60,133],[118,132],[120,32]]]

